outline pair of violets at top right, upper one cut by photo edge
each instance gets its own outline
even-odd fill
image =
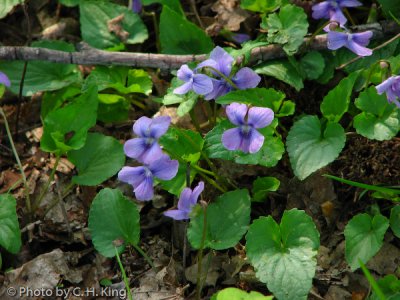
[[[366,48],[372,37],[372,31],[350,33],[345,27],[347,19],[342,9],[360,5],[362,3],[357,0],[327,0],[313,5],[314,19],[329,19],[331,22],[324,28],[328,32],[328,49],[337,50],[346,47],[359,56],[372,55],[372,50]],[[338,25],[345,31],[335,31]]]

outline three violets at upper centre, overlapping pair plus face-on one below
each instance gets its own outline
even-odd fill
[[[182,65],[178,78],[184,83],[174,90],[175,94],[194,91],[205,100],[217,99],[234,88],[244,90],[255,88],[261,77],[250,68],[241,68],[232,74],[234,58],[221,47],[216,47],[210,58],[201,62],[194,70]],[[207,74],[201,71],[208,71]],[[246,153],[258,152],[264,136],[257,129],[271,124],[274,112],[265,107],[249,107],[246,104],[232,103],[226,107],[226,114],[237,127],[228,129],[222,135],[222,144],[228,150],[241,150]]]

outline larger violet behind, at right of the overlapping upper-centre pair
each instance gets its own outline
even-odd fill
[[[222,49],[221,47],[215,47],[214,50],[210,53],[210,58],[200,63],[197,66],[197,69],[211,67],[222,73],[225,77],[229,78],[233,62],[233,57],[229,55],[224,49]],[[206,100],[216,99],[220,96],[225,95],[233,89],[233,86],[217,72],[213,71],[212,69],[211,72],[217,78],[212,79],[213,89],[211,92],[205,94],[204,99]],[[256,87],[259,84],[261,77],[258,76],[252,69],[246,67],[240,69],[231,78],[231,80],[240,90],[244,90]]]

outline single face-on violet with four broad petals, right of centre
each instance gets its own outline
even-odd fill
[[[251,107],[246,104],[231,103],[226,107],[229,120],[238,127],[222,134],[222,144],[228,150],[242,150],[246,153],[258,152],[264,144],[264,136],[256,129],[271,124],[274,112],[266,107]]]

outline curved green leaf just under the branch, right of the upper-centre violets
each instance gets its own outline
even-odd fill
[[[303,85],[303,78],[287,59],[271,60],[255,66],[254,71],[282,80],[300,91]]]

